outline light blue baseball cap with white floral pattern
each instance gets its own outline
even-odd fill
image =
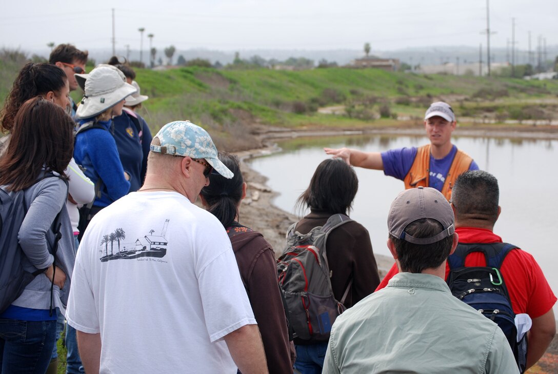
[[[217,148],[208,132],[190,121],[174,121],[165,124],[155,135],[160,146],[151,145],[150,150],[167,155],[188,156],[204,159],[225,178],[234,174],[217,158]],[[155,138],[154,137],[154,138]]]

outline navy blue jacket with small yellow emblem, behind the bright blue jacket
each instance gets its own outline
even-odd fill
[[[136,116],[141,127],[141,136],[131,116]],[[122,167],[130,175],[130,192],[137,191],[143,184],[147,169],[147,154],[151,144],[152,136],[145,119],[137,113],[129,113],[126,110],[113,118],[114,132],[112,136],[118,147],[118,154]]]

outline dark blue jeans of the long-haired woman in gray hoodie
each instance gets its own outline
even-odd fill
[[[0,319],[2,373],[44,374],[55,344],[56,321]]]

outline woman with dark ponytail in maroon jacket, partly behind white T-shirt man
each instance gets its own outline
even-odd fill
[[[223,224],[237,258],[240,277],[262,334],[270,374],[292,373],[285,310],[277,284],[275,252],[262,234],[238,222],[246,183],[236,156],[219,153],[219,160],[234,173],[227,179],[212,172],[200,193],[204,207]]]

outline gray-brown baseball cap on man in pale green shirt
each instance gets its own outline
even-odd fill
[[[411,222],[431,218],[444,229],[430,238],[415,238],[405,232]],[[454,213],[448,200],[440,191],[430,187],[417,187],[403,191],[391,203],[387,218],[390,234],[413,244],[432,244],[455,232]]]

